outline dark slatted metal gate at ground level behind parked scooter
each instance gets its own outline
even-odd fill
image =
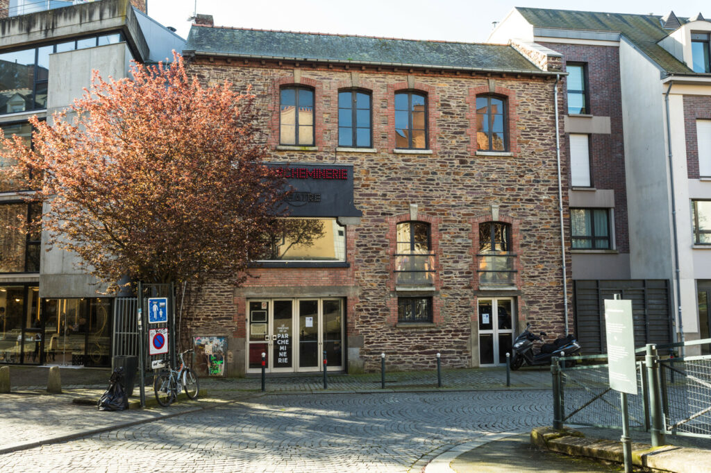
[[[636,347],[668,344],[672,338],[669,281],[574,281],[575,334],[583,354],[606,353],[604,300],[632,301]]]

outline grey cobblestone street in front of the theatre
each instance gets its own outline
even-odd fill
[[[550,423],[550,404],[533,390],[268,394],[0,455],[0,471],[419,472],[461,442]]]

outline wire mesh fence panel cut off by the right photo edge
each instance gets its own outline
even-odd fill
[[[711,357],[659,361],[665,430],[711,437]]]

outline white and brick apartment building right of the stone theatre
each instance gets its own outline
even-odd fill
[[[602,300],[635,300],[636,342],[708,338],[711,22],[515,8],[489,40],[562,54],[576,332],[604,351]]]

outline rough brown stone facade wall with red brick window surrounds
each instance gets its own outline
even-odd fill
[[[243,356],[246,301],[259,294],[345,298],[348,362],[366,370],[379,369],[381,352],[387,353],[388,366],[396,369],[432,369],[438,351],[444,366],[478,365],[477,297],[513,295],[518,328],[528,320],[535,330],[562,334],[555,80],[392,68],[353,71],[336,65],[201,57],[192,59],[189,71],[206,85],[225,80],[238,90],[252,85],[269,134],[265,139],[272,149],[271,161],[352,164],[355,207],[363,212],[360,224],[346,230],[348,268],[260,268],[252,271],[257,278],[238,289],[213,282],[200,296],[209,303],[194,305],[188,315],[191,333],[228,334],[231,348],[241,350]],[[279,86],[294,83],[309,85],[316,92],[316,151],[277,149]],[[342,87],[372,91],[375,153],[336,151],[338,89]],[[427,93],[432,154],[393,152],[393,94],[398,89]],[[477,155],[472,145],[476,130],[471,116],[476,109],[471,97],[478,91],[501,94],[513,106],[509,123],[513,156]],[[392,229],[407,218],[413,205],[417,205],[418,219],[434,226],[432,234],[437,239],[437,284],[430,293],[436,313],[431,325],[407,327],[397,324],[397,297],[408,294],[398,293],[392,284]],[[479,222],[492,219],[492,207],[499,209],[500,219],[515,223],[519,286],[513,292],[477,292],[474,245]],[[239,363],[231,373],[244,370],[243,357]]]

